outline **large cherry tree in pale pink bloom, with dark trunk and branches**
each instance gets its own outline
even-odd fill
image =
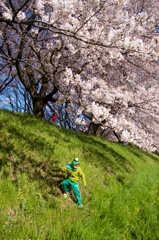
[[[2,0],[0,7],[1,73],[8,84],[18,77],[34,114],[63,104],[82,131],[94,126],[159,149],[158,1]]]

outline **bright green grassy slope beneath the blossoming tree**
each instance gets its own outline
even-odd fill
[[[50,171],[74,157],[82,209]],[[1,110],[0,163],[1,239],[159,239],[157,155]]]

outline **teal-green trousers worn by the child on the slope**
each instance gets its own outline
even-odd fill
[[[68,193],[68,188],[71,186],[72,187],[72,191],[76,197],[77,200],[77,204],[79,206],[82,205],[82,200],[81,200],[81,193],[79,191],[79,187],[78,187],[78,183],[77,182],[72,182],[70,179],[65,179],[62,181],[62,186],[64,189],[65,193]]]

